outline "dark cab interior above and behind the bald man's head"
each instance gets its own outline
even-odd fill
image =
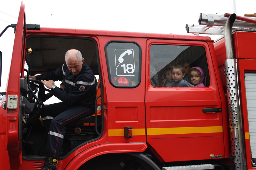
[[[94,74],[99,74],[96,45],[89,39],[33,36],[28,37],[26,48],[32,48],[32,52],[26,53],[25,57],[30,75],[58,69],[65,63],[65,53],[69,49],[79,50]]]

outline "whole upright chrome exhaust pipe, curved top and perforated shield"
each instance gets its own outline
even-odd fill
[[[228,117],[230,126],[231,158],[234,170],[246,170],[243,121],[240,107],[239,83],[237,73],[237,61],[233,46],[232,26],[236,20],[236,14],[229,16],[225,24],[225,45],[227,60],[225,60]],[[248,161],[249,163],[249,161]]]

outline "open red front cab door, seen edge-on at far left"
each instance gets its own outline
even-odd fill
[[[6,86],[6,98],[1,107],[1,115],[6,117],[6,121],[1,122],[6,130],[6,150],[4,152],[8,162],[15,162],[7,165],[6,162],[1,164],[0,169],[19,169],[22,162],[21,154],[21,136],[22,136],[22,102],[20,102],[20,78],[23,74],[22,66],[23,59],[20,58],[25,53],[25,34],[26,34],[26,21],[25,21],[25,5],[21,3],[20,13],[16,27],[14,27],[15,40],[13,44],[12,61],[10,65],[9,77]],[[11,76],[10,76],[11,75]],[[3,144],[3,143],[2,143]]]

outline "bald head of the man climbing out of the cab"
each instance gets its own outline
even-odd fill
[[[84,59],[80,51],[76,49],[70,49],[65,54],[65,62],[68,66],[68,70],[77,75],[82,70]]]

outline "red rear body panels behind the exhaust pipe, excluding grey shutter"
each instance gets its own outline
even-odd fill
[[[243,136],[245,141],[245,152],[247,160],[247,168],[252,169],[255,165],[255,136],[254,136],[254,105],[255,100],[254,89],[255,81],[255,37],[256,32],[240,32],[233,33],[235,58],[237,59],[238,85],[240,94],[240,104],[243,117]],[[214,43],[216,57],[218,61],[220,77],[224,92],[226,91],[226,49],[225,38]],[[251,163],[252,162],[252,163]]]

